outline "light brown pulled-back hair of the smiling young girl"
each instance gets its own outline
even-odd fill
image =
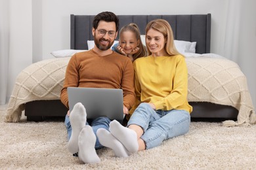
[[[135,61],[135,59],[137,59],[137,58],[147,56],[148,53],[146,52],[145,46],[142,44],[142,41],[140,38],[140,30],[139,30],[138,25],[135,23],[131,23],[131,24],[123,26],[119,31],[119,37],[120,37],[121,33],[125,32],[125,31],[131,31],[132,33],[135,33],[136,39],[140,41],[139,46],[138,46],[140,49],[136,54],[133,54],[133,61]]]

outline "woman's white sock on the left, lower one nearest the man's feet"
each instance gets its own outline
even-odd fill
[[[100,144],[114,150],[115,156],[128,157],[130,155],[125,146],[123,146],[123,144],[121,144],[116,137],[106,129],[100,128],[97,130],[96,134]]]

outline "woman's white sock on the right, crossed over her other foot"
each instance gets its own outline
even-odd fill
[[[112,133],[129,152],[134,153],[139,150],[137,133],[128,127],[122,126],[117,120],[110,122],[110,133]]]

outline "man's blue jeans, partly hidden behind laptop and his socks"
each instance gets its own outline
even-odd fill
[[[93,132],[95,133],[95,136],[96,136],[95,149],[103,147],[102,144],[100,144],[100,142],[98,141],[96,131],[99,128],[104,128],[104,129],[109,131],[110,122],[111,122],[111,120],[109,118],[106,118],[106,117],[96,118],[96,119],[92,120],[91,124],[86,122],[87,125],[90,125],[93,128]],[[68,141],[69,141],[70,137],[71,137],[71,133],[72,133],[72,127],[71,127],[71,124],[70,124],[70,117],[68,115],[66,115],[66,118],[65,118],[65,125],[66,125],[67,130],[68,130]]]

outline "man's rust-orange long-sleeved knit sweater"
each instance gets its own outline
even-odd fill
[[[68,87],[121,88],[123,105],[130,109],[135,103],[133,63],[116,52],[107,56],[100,56],[93,50],[79,52],[68,63],[60,94],[60,100],[66,107]]]

